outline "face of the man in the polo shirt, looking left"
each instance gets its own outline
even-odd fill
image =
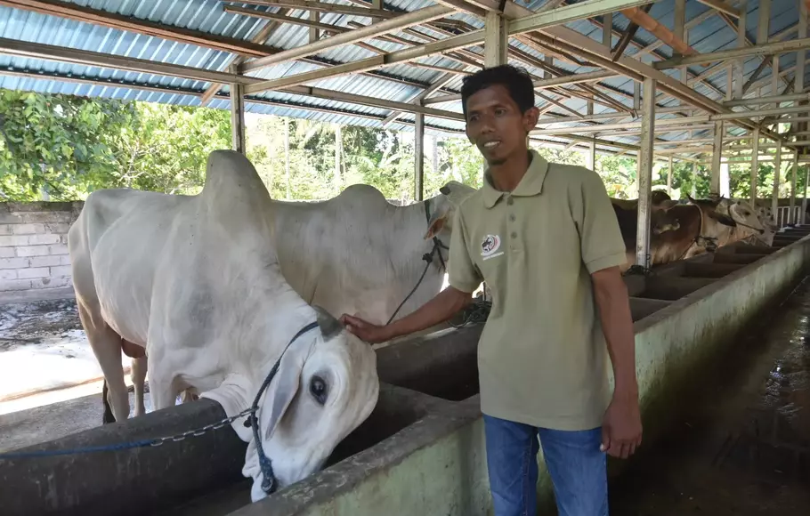
[[[535,107],[521,113],[506,86],[491,85],[466,101],[467,138],[491,165],[501,165],[508,157],[526,152],[526,136],[537,125]]]

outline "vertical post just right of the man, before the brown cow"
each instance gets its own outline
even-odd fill
[[[637,84],[637,83],[636,83]],[[655,79],[644,78],[644,115],[641,117],[641,146],[638,149],[638,220],[636,222],[636,265],[650,269],[650,192],[652,187],[652,141],[655,139]]]

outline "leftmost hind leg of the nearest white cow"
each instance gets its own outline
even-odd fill
[[[92,316],[84,302],[78,303],[79,319],[85,335],[99,361],[107,384],[107,401],[112,407],[116,421],[129,417],[129,395],[124,383],[124,367],[121,366],[121,337],[103,321],[100,314]]]

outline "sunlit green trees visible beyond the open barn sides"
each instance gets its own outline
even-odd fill
[[[247,113],[247,157],[272,198],[325,199],[366,183],[386,198],[414,198],[413,133],[338,127],[311,120]],[[288,142],[287,142],[288,141]],[[94,189],[127,187],[194,194],[205,181],[208,154],[231,148],[230,114],[222,109],[85,99],[0,90],[0,198],[85,198]],[[336,150],[340,150],[339,158]],[[536,146],[550,162],[585,165],[575,149]],[[339,165],[339,166],[338,166]],[[673,198],[709,195],[709,167],[676,161]],[[729,165],[733,197],[749,198],[748,163]],[[481,153],[460,137],[425,138],[425,197],[448,181],[482,186]],[[782,163],[780,196],[790,196],[791,164]],[[608,195],[636,198],[636,159],[596,157]],[[653,189],[665,188],[668,165],[656,162]],[[757,171],[758,197],[770,198],[773,162]],[[805,173],[798,173],[798,192]]]

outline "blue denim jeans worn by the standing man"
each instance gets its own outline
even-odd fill
[[[549,430],[490,415],[483,418],[495,516],[537,514],[540,445],[559,516],[607,516],[607,456],[599,451],[601,428]]]

